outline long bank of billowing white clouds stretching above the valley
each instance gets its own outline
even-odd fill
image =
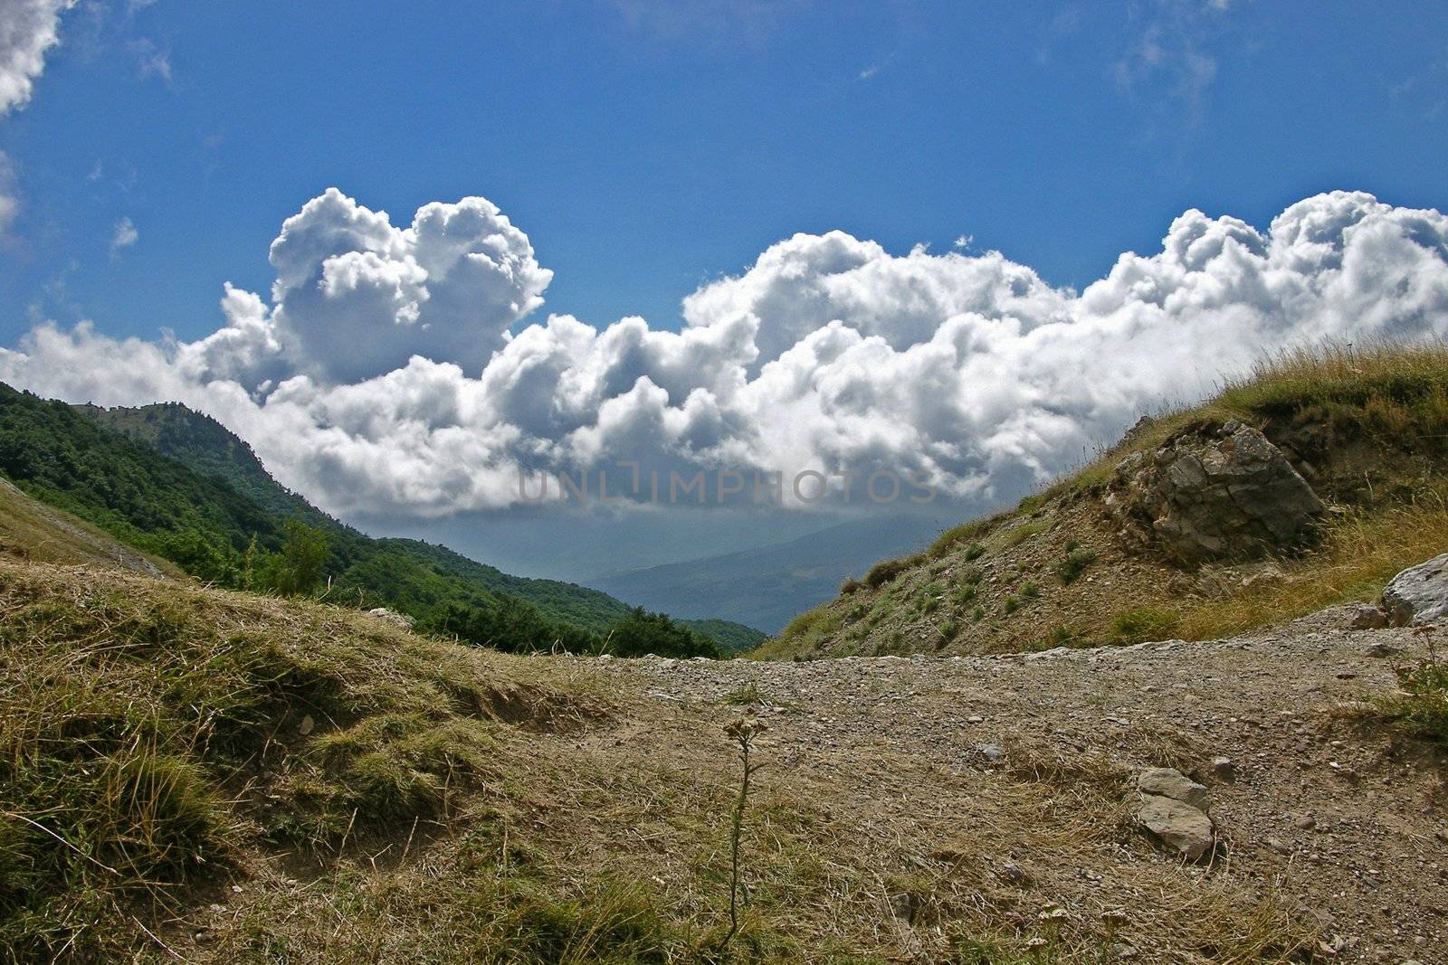
[[[520,470],[885,470],[1009,496],[1264,352],[1448,334],[1448,217],[1334,192],[1263,231],[1187,211],[1082,292],[999,253],[796,234],[683,301],[681,331],[518,328],[552,273],[491,203],[394,227],[337,191],[288,218],[269,299],[226,288],[193,343],[32,330],[0,379],[104,405],[178,399],[348,512],[520,501]],[[786,502],[789,492],[786,492]],[[859,492],[859,490],[856,490]]]

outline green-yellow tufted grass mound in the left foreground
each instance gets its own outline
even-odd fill
[[[537,681],[352,611],[36,564],[0,563],[0,961],[194,961],[210,949],[177,914],[237,904],[255,877],[320,884],[368,961],[361,932],[397,914],[418,917],[387,943],[436,961],[688,943],[636,883],[555,878],[534,788],[508,784],[529,734],[607,715],[586,680]],[[358,890],[362,867],[430,846],[443,820],[449,880]],[[252,907],[227,958],[319,943],[339,909],[297,904]]]

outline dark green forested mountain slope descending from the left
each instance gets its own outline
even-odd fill
[[[324,590],[434,628],[485,626],[487,635],[469,639],[504,650],[598,650],[607,638],[627,652],[637,642],[615,632],[639,625],[633,608],[607,593],[511,576],[416,540],[374,540],[332,519],[278,485],[246,443],[181,405],[70,407],[0,385],[0,473],[217,586]],[[725,639],[689,628],[682,652],[763,638],[734,624],[712,631]]]

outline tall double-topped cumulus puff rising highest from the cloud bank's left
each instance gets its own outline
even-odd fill
[[[356,382],[413,354],[476,372],[507,330],[543,304],[553,272],[527,234],[485,198],[427,204],[408,227],[336,188],[287,218],[272,242],[277,271],[266,317],[227,311],[222,339],[236,347],[216,370],[246,379],[271,372],[275,347],[306,375]],[[229,299],[235,302],[229,294]],[[207,354],[216,354],[213,344]]]

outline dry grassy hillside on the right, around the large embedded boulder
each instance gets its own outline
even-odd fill
[[[1284,558],[1183,567],[1122,538],[1115,466],[1196,424],[1260,428],[1331,505]],[[1209,402],[1144,420],[1009,512],[885,560],[759,655],[982,652],[1205,639],[1373,598],[1448,545],[1448,347],[1325,349],[1263,362]]]

